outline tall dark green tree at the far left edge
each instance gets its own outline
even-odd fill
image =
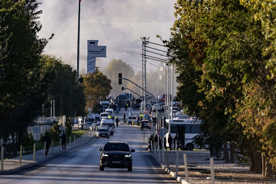
[[[41,29],[38,5],[35,0],[0,0],[4,18],[0,29],[5,29],[0,43],[6,48],[0,59],[0,139],[5,145],[11,136],[14,153],[20,132],[42,113],[53,80],[50,73],[41,72],[41,53],[49,40],[37,36]]]

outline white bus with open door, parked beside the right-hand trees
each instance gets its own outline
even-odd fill
[[[166,139],[168,140],[168,134],[174,139],[174,136],[178,133],[178,148],[192,151],[195,148],[195,145],[192,143],[193,138],[201,133],[200,123],[200,120],[166,119]],[[169,147],[168,141],[166,145]],[[172,147],[173,145],[174,143],[172,143]]]

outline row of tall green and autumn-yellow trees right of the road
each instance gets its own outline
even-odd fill
[[[178,0],[171,38],[177,97],[203,120],[207,143],[222,140],[250,158],[251,170],[276,168],[276,7],[271,0]],[[226,152],[225,152],[226,153]],[[228,155],[228,154],[227,154]],[[231,155],[230,155],[231,156]],[[273,166],[273,167],[272,167]],[[272,169],[274,168],[274,169]]]

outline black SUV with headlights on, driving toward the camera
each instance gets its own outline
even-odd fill
[[[101,152],[100,155],[100,171],[104,170],[104,167],[109,168],[128,168],[128,171],[132,171],[132,154],[135,150],[130,150],[128,144],[123,141],[107,141],[104,145],[104,149],[98,149]]]

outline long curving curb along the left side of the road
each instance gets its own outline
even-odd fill
[[[14,169],[6,170],[6,171],[0,171],[0,175],[7,175],[7,174],[15,173],[15,172],[17,172],[17,171],[21,171],[22,169],[26,169],[26,168],[28,168],[28,167],[33,167],[34,165],[41,165],[43,162],[45,162],[45,161],[47,161],[47,160],[49,160],[49,159],[52,159],[53,157],[55,157],[55,156],[57,156],[57,155],[59,155],[59,154],[61,154],[61,153],[63,153],[63,152],[67,152],[67,151],[69,151],[69,150],[78,148],[78,147],[80,147],[80,146],[82,146],[82,145],[88,143],[88,142],[91,141],[94,137],[95,137],[95,135],[92,136],[92,137],[91,137],[90,139],[88,139],[87,141],[84,141],[82,144],[79,144],[79,145],[77,145],[77,146],[75,146],[75,147],[66,149],[66,151],[58,151],[57,153],[54,153],[53,155],[51,155],[51,156],[49,156],[49,157],[45,157],[45,158],[43,158],[43,159],[41,159],[41,160],[34,161],[33,163],[29,163],[29,164],[26,164],[26,165],[22,165],[22,166],[20,166],[20,167],[16,167],[16,168],[14,168]]]

